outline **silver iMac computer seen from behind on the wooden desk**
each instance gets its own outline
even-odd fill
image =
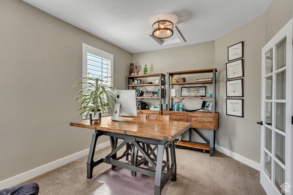
[[[117,90],[113,92],[116,103],[107,95],[107,100],[111,101],[112,108],[108,107],[108,113],[112,113],[112,120],[132,120],[134,118],[121,118],[119,115],[137,116],[135,90]]]

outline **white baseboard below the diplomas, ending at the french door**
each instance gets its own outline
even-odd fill
[[[244,163],[244,164],[246,164],[246,165],[248,165],[248,166],[250,166],[250,167],[252,167],[252,168],[254,168],[254,169],[258,170],[258,171],[260,171],[260,163],[257,163],[257,162],[255,162],[253,160],[250,160],[250,159],[248,159],[248,158],[246,158],[244,156],[236,154],[235,152],[232,152],[230,150],[222,148],[221,146],[215,145],[215,148],[216,148],[217,151],[222,152],[222,153],[224,153],[224,154],[236,159],[237,161],[240,161],[241,163]]]

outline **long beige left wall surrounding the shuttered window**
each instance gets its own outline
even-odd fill
[[[74,104],[82,43],[114,55],[124,89],[132,54],[20,0],[0,1],[0,181],[90,146]],[[98,144],[108,140],[99,138]]]

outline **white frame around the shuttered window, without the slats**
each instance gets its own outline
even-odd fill
[[[111,61],[111,76],[113,76],[113,73],[114,73],[114,55],[113,54],[110,54],[108,52],[105,52],[103,50],[100,50],[100,49],[97,49],[93,46],[90,46],[90,45],[87,45],[87,44],[82,44],[82,77],[88,77],[88,57],[87,57],[87,54],[90,53],[90,54],[93,54],[93,55],[96,55],[96,56],[99,56],[99,57],[102,57],[102,58],[106,58],[106,59],[109,59],[110,57],[110,61]],[[114,86],[114,82],[113,82],[113,77],[111,78],[111,87]],[[86,83],[83,83],[82,84],[82,88],[85,88],[87,87],[87,84]],[[101,113],[102,116],[107,116],[109,115],[108,113]],[[83,119],[86,119],[86,114],[83,114],[82,115],[82,118]]]

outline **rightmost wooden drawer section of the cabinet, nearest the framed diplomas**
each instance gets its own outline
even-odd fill
[[[188,122],[192,122],[192,127],[200,129],[217,130],[218,120],[216,114],[188,114]]]

